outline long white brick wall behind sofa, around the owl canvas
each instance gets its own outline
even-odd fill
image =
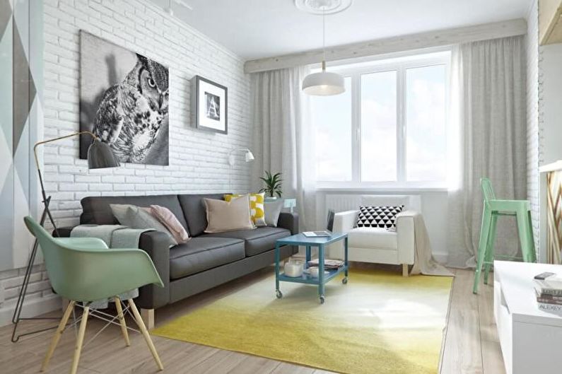
[[[45,0],[45,138],[78,131],[79,35],[83,29],[156,59],[170,69],[170,165],[126,164],[88,172],[78,139],[44,148],[45,186],[59,226],[78,223],[87,196],[245,192],[250,165],[239,156],[228,185],[227,154],[251,148],[250,78],[243,61],[148,0]],[[194,129],[189,79],[201,75],[228,87],[228,135]],[[0,325],[7,322],[25,269],[0,272]],[[41,267],[32,298],[51,296]],[[4,311],[4,314],[2,312]]]

